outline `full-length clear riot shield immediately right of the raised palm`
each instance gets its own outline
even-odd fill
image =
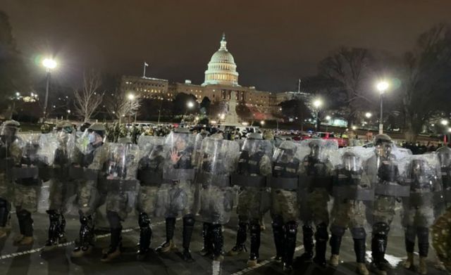
[[[240,148],[235,141],[206,138],[201,151],[196,177],[196,183],[202,186],[199,214],[204,222],[226,224],[235,198],[230,176],[235,171]]]

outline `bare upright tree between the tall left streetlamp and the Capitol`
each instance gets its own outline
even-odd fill
[[[75,113],[87,122],[94,115],[104,98],[104,91],[99,91],[101,76],[90,71],[83,74],[82,89],[74,89]]]

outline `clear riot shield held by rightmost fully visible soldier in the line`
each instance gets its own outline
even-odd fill
[[[436,154],[409,155],[402,160],[403,181],[410,186],[409,197],[403,199],[404,226],[429,227],[442,210],[443,186],[440,162]]]

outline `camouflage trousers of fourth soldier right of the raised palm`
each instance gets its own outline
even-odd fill
[[[328,202],[330,196],[326,188],[314,188],[301,194],[300,217],[304,225],[329,224]]]

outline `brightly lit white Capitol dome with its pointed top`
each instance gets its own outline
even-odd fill
[[[227,50],[226,34],[223,34],[221,46],[211,56],[208,69],[205,71],[205,81],[202,86],[209,84],[240,86],[238,85],[237,65],[232,53]]]

